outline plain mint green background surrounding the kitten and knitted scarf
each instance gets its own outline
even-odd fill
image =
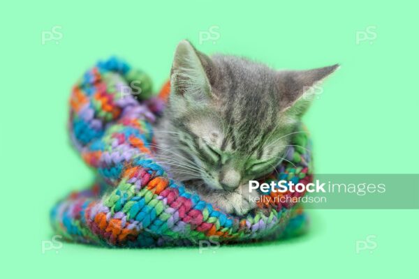
[[[323,2],[323,3],[321,3]],[[157,90],[175,46],[248,56],[275,68],[341,63],[305,117],[316,172],[418,173],[418,4],[413,1],[3,1],[1,20],[1,273],[213,278],[353,276],[417,271],[418,211],[311,211],[309,234],[214,252],[197,248],[107,250],[50,240],[48,211],[93,174],[69,146],[71,85],[97,59],[117,54],[146,70]],[[63,37],[41,43],[61,26]],[[199,44],[200,31],[220,38]],[[355,43],[357,31],[376,38]],[[409,193],[407,193],[409,195]],[[376,249],[355,241],[376,235]],[[410,277],[410,276],[409,276]]]

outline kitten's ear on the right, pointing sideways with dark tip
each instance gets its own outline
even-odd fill
[[[339,68],[339,64],[312,70],[279,71],[279,105],[284,112],[295,108],[304,113],[316,95],[316,86]]]

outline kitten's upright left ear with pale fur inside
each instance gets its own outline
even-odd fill
[[[195,102],[210,98],[212,92],[206,68],[211,65],[210,57],[198,52],[188,40],[182,40],[177,45],[170,72],[170,84],[174,93]]]

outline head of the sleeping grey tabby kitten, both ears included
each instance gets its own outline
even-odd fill
[[[269,174],[314,97],[311,89],[337,67],[277,71],[236,56],[209,57],[183,40],[168,109],[177,148],[212,189],[235,190]]]

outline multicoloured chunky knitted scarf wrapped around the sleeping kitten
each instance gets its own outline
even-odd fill
[[[140,81],[140,92],[131,91],[133,81]],[[197,245],[210,237],[235,243],[303,232],[307,217],[300,204],[275,197],[304,193],[267,193],[256,210],[235,216],[170,179],[154,162],[152,147],[152,123],[161,116],[169,93],[167,83],[153,95],[145,73],[115,58],[98,62],[73,86],[71,140],[97,179],[54,206],[54,233],[67,241],[102,246],[155,247]],[[297,130],[286,160],[264,181],[311,182],[310,149],[307,132]]]

